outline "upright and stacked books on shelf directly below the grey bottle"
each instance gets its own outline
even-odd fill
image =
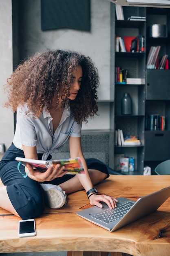
[[[141,141],[135,135],[127,135],[124,137],[123,131],[115,130],[115,145],[117,146],[136,146],[141,145]]]

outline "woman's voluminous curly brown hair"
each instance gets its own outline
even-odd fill
[[[73,71],[82,67],[82,82],[75,100],[68,96],[73,81]],[[97,68],[88,56],[73,51],[48,50],[29,57],[18,65],[7,79],[4,91],[8,93],[5,107],[13,112],[19,105],[27,103],[26,113],[40,117],[42,110],[57,109],[59,99],[71,108],[71,115],[80,123],[88,117],[97,115],[97,87],[99,76]],[[55,99],[55,106],[53,104]]]

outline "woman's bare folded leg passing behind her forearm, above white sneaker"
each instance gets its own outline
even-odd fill
[[[91,177],[92,183],[95,185],[99,182],[102,182],[107,177],[106,173],[102,173],[98,170],[88,170],[89,175]],[[77,175],[75,175],[72,179],[67,180],[66,182],[59,184],[63,191],[66,191],[66,194],[73,193],[75,191],[79,191],[84,189],[82,184],[79,182]]]

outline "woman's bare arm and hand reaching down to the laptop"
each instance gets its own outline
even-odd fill
[[[82,153],[82,146],[81,146],[81,137],[70,137],[69,138],[69,147],[70,147],[70,155],[71,158],[80,157],[85,175],[84,174],[78,174],[77,177],[79,178],[80,183],[86,190],[86,192],[93,188],[93,184],[90,178],[90,175],[88,173],[88,168],[86,164],[86,160],[84,159],[83,153]],[[89,194],[91,195],[91,194]],[[98,207],[102,208],[102,204],[100,202],[105,202],[108,204],[108,207],[110,209],[116,207],[117,200],[113,197],[110,197],[108,195],[91,195],[89,197],[91,205],[97,205]]]

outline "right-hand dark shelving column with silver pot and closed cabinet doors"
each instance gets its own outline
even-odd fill
[[[147,8],[146,11],[146,54],[151,46],[160,45],[159,59],[168,54],[170,59],[170,10],[167,8]],[[167,27],[167,34],[152,38],[148,29],[152,24],[162,24]],[[159,60],[160,61],[160,60]],[[146,113],[165,117],[164,130],[145,130],[145,162],[155,167],[162,161],[170,159],[170,70],[146,69]]]

